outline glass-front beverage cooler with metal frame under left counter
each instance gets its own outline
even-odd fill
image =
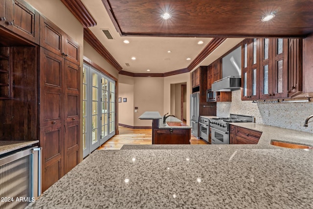
[[[0,208],[24,209],[41,194],[41,147],[0,157]]]

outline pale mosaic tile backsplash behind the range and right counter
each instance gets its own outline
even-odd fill
[[[313,118],[308,127],[304,121],[313,115],[313,102],[286,102],[286,103],[252,103],[242,101],[241,91],[232,92],[232,102],[218,102],[217,116],[228,117],[230,113],[254,116],[256,123],[277,126],[313,133]]]

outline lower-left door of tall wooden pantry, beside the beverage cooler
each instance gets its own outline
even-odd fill
[[[40,128],[42,150],[42,192],[64,175],[64,141],[61,124]]]

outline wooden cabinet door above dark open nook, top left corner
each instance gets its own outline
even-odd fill
[[[12,5],[13,19],[7,19],[10,24],[6,27],[29,41],[39,44],[39,13],[23,0],[13,0]]]

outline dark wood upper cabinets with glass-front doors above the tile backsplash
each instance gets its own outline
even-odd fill
[[[298,95],[302,91],[302,39],[246,39],[242,66],[242,100]]]

